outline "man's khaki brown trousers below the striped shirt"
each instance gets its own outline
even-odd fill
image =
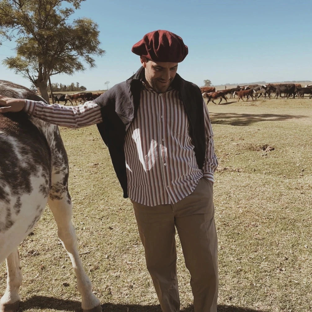
[[[163,312],[180,309],[175,227],[191,274],[194,311],[217,311],[217,233],[212,195],[213,183],[202,178],[194,192],[176,204],[149,207],[132,201],[147,269]]]

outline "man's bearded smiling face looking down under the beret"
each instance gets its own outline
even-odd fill
[[[143,56],[141,63],[147,83],[158,93],[166,92],[177,73],[178,63],[148,61]]]

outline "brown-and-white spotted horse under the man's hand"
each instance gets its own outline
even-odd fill
[[[43,100],[31,90],[0,80],[0,94]],[[24,112],[0,114],[0,263],[6,260],[7,288],[0,311],[16,311],[22,273],[17,247],[49,204],[58,236],[72,261],[83,311],[102,311],[77,250],[68,193],[68,160],[58,127]]]

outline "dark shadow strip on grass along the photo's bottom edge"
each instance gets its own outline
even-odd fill
[[[20,303],[19,312],[30,309],[53,309],[60,311],[81,312],[81,303],[74,300],[62,300],[53,297],[33,296],[32,298]],[[102,305],[103,312],[161,312],[159,305],[125,305],[110,304]],[[181,312],[193,312],[193,306],[181,310]],[[218,312],[267,312],[264,310],[252,310],[247,308],[236,307],[232,305],[218,305]]]

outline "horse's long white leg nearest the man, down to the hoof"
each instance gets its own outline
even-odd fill
[[[77,237],[71,223],[72,206],[68,193],[61,194],[61,199],[49,198],[48,204],[57,223],[57,234],[66,249],[77,277],[77,288],[81,294],[81,307],[84,312],[100,312],[100,301],[92,292],[92,284],[85,273],[77,248]],[[60,198],[59,197],[59,198]]]

